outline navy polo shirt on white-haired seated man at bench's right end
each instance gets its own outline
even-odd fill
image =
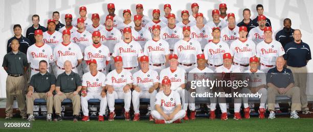
[[[266,83],[286,88],[290,83],[295,83],[293,72],[287,68],[283,68],[281,72],[276,67],[272,68],[266,74]]]

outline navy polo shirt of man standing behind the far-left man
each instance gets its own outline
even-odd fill
[[[7,53],[11,52],[12,51],[12,48],[11,48],[11,42],[13,39],[17,39],[18,40],[18,43],[19,43],[19,48],[18,50],[20,52],[23,52],[24,54],[27,54],[27,49],[28,47],[30,47],[31,45],[33,45],[33,43],[31,43],[31,41],[24,37],[23,35],[20,37],[20,38],[16,38],[15,36],[10,38],[8,40],[8,43],[7,43]]]

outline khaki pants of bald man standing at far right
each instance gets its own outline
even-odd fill
[[[306,81],[307,81],[307,69],[306,66],[301,68],[289,67],[288,69],[292,70],[295,80],[295,86],[300,88],[300,100],[301,100],[301,110],[308,111],[307,107],[307,96],[306,92]]]

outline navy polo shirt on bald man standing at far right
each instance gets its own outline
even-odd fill
[[[304,67],[306,61],[311,59],[309,46],[301,40],[298,44],[295,41],[289,42],[284,47],[286,54],[283,55],[290,67]]]

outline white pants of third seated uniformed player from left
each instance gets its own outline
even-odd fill
[[[155,95],[157,95],[157,91],[154,90],[151,94],[148,91],[132,91],[132,106],[133,106],[133,111],[135,114],[139,114],[139,104],[140,104],[140,99],[146,98],[150,99],[150,111],[154,110],[154,101],[155,101]]]

